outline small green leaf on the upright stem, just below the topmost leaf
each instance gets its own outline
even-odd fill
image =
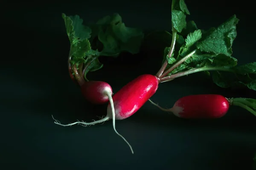
[[[180,33],[186,28],[186,15],[182,11],[172,10],[172,25]]]

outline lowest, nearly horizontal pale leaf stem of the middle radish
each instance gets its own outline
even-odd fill
[[[168,81],[170,81],[172,79],[175,79],[177,77],[186,76],[188,74],[197,73],[197,72],[200,72],[200,71],[229,71],[229,72],[234,72],[230,68],[224,68],[224,67],[193,68],[193,69],[188,70],[188,71],[183,71],[183,72],[180,72],[180,73],[172,74],[171,76],[160,78],[160,82],[168,82]]]

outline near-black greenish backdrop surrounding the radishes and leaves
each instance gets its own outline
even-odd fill
[[[55,125],[76,119],[90,122],[106,114],[106,105],[91,105],[81,96],[67,70],[68,41],[61,13],[78,14],[84,23],[119,13],[126,26],[168,30],[170,1],[71,1],[2,4],[0,164],[30,169],[250,170],[256,152],[256,119],[231,107],[221,119],[185,120],[149,102],[116,128],[134,149],[114,133],[112,122],[90,127]],[[198,28],[218,26],[233,14],[240,19],[233,57],[255,62],[254,10],[237,1],[186,0]],[[157,42],[156,42],[157,43]],[[147,55],[145,55],[147,54]],[[162,56],[145,51],[118,59],[100,58],[104,67],[89,78],[108,82],[113,93],[141,74],[156,74]],[[172,107],[182,96],[222,94],[255,98],[255,91],[222,89],[198,73],[159,85],[151,98]],[[6,169],[6,168],[1,168]]]

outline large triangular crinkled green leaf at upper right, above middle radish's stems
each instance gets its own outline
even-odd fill
[[[198,42],[197,48],[204,52],[231,56],[231,47],[236,38],[236,24],[238,22],[239,19],[236,18],[236,15],[233,15],[214,31],[209,30],[207,33],[210,34],[204,40]]]

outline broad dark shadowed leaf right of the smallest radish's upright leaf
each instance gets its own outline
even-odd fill
[[[118,56],[122,51],[137,54],[144,34],[141,29],[126,27],[119,14],[106,16],[96,23],[98,39],[103,44],[101,55]]]

